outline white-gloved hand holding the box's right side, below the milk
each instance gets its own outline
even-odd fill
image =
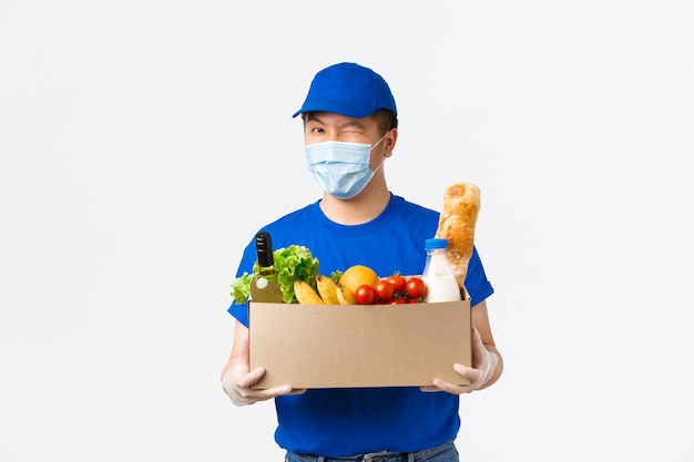
[[[453,365],[453,370],[470,380],[470,384],[456,386],[441,379],[433,379],[432,387],[420,387],[422,391],[447,391],[452,394],[469,393],[479,390],[491,379],[497,370],[499,356],[489,351],[482,343],[480,332],[472,328],[472,367]]]

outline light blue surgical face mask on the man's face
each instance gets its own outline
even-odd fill
[[[381,161],[376,171],[369,168],[371,150],[385,137],[372,146],[341,141],[309,144],[306,146],[308,171],[326,193],[341,199],[351,198],[366,187],[384,164]]]

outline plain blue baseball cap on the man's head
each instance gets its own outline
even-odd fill
[[[379,109],[390,110],[398,115],[388,83],[368,68],[343,62],[330,65],[314,76],[304,105],[292,116],[325,111],[361,119]]]

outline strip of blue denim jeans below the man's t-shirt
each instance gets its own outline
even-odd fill
[[[372,452],[353,458],[325,458],[287,452],[285,462],[459,462],[458,450],[452,441],[417,452]]]

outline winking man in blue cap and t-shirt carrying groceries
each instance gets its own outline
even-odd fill
[[[327,270],[360,264],[378,275],[421,274],[423,243],[433,237],[439,214],[388,189],[385,161],[398,140],[398,119],[386,81],[355,63],[328,66],[315,75],[294,116],[299,114],[308,168],[324,193],[320,201],[263,227],[275,246],[306,246]],[[251,242],[237,275],[251,273],[255,258]],[[275,399],[275,441],[288,462],[458,461],[459,394],[491,386],[503,369],[487,314],[493,289],[477,248],[466,289],[472,299],[473,367],[451,367],[469,386],[436,379],[422,388],[293,390],[286,384],[253,390],[265,370],[248,368],[246,305],[233,304],[235,338],[223,388],[236,405]]]

